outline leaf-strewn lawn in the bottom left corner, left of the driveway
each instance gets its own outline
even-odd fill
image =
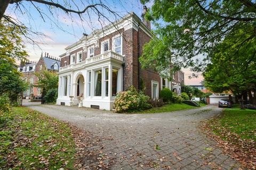
[[[0,126],[2,169],[73,169],[75,143],[66,123],[26,107],[14,107]]]

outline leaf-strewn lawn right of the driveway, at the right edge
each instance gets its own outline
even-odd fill
[[[256,111],[226,108],[201,128],[248,169],[256,169]]]

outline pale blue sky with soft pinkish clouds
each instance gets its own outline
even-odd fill
[[[87,4],[95,4],[98,1],[100,0],[63,0],[54,2],[67,5],[65,4],[66,2],[71,8],[79,8],[81,10]],[[119,16],[124,16],[132,11],[138,16],[141,16],[142,13],[143,5],[139,0],[101,0],[101,2],[106,4],[110,10],[115,11]],[[150,7],[152,2],[146,5]],[[41,13],[38,11],[41,11]],[[5,14],[24,23],[32,31],[43,33],[44,36],[31,34],[30,38],[37,41],[37,45],[23,37],[29,55],[27,57],[28,60],[38,61],[41,53],[49,53],[51,56],[58,57],[65,53],[67,46],[79,40],[83,36],[83,33],[90,34],[92,30],[109,24],[110,22],[108,20],[115,21],[117,15],[113,15],[107,10],[101,10],[101,12],[107,16],[107,19],[101,18],[99,22],[98,16],[92,10],[84,13],[81,19],[77,14],[70,15],[57,8],[49,8],[49,6],[44,4],[36,2],[31,4],[31,2],[22,1],[19,7],[15,4],[9,5]],[[199,75],[198,78],[188,79],[189,75],[192,74],[190,70],[182,69],[182,71],[185,72],[185,84],[187,85],[200,84],[203,80],[202,75]]]

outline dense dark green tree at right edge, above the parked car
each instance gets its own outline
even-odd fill
[[[211,64],[203,72],[205,86],[213,92],[231,91],[239,98],[244,96],[256,104],[256,38],[239,29],[223,39],[211,55]],[[247,41],[250,39],[250,41]],[[243,42],[243,46],[241,46]],[[223,50],[230,46],[229,50]],[[239,49],[239,50],[237,50]]]

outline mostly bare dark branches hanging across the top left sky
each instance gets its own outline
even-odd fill
[[[76,15],[81,23],[85,22],[92,28],[95,27],[95,23],[98,22],[101,27],[105,25],[105,22],[112,23],[114,27],[115,21],[111,21],[111,19],[121,18],[119,12],[115,12],[113,9],[113,4],[123,5],[121,1],[113,0],[113,2],[105,2],[103,1],[47,1],[47,0],[0,0],[0,22],[5,19],[8,23],[16,25],[18,28],[21,28],[23,36],[26,38],[28,43],[39,46],[39,41],[35,39],[35,36],[39,36],[38,38],[43,38],[45,36],[44,33],[38,32],[34,25],[31,23],[35,22],[35,15],[31,15],[30,12],[36,10],[38,12],[38,16],[42,19],[42,22],[49,21],[56,28],[68,32],[63,29],[59,24],[59,16],[66,14],[68,18],[71,19],[71,25],[73,25],[74,15]],[[17,16],[14,18],[13,15],[6,14],[7,7],[10,6],[12,10],[12,14]],[[64,14],[64,15],[65,15]],[[27,25],[22,23],[19,19],[20,16],[23,16],[29,22]],[[37,21],[38,22],[38,21]],[[33,27],[34,26],[34,27]],[[81,29],[85,30],[85,27],[82,24]],[[70,34],[73,34],[69,32]],[[84,35],[87,35],[84,33]]]

